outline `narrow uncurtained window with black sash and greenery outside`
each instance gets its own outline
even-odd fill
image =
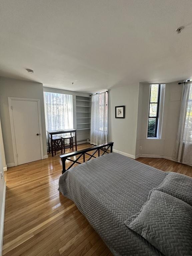
[[[157,138],[161,84],[150,85],[148,138]]]

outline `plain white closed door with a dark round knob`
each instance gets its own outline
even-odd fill
[[[41,159],[37,101],[11,100],[18,164]]]

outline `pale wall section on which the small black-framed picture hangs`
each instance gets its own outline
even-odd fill
[[[109,90],[108,141],[114,149],[135,156],[139,83]],[[125,105],[125,118],[115,118],[115,106]]]

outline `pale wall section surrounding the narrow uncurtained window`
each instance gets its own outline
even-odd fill
[[[138,125],[140,127],[138,128],[137,133],[136,155],[142,154],[143,157],[150,155],[151,157],[171,158],[179,122],[182,85],[178,85],[178,82],[174,82],[167,83],[165,86],[161,139],[146,138],[149,89],[149,84],[140,83],[140,104],[138,105]],[[139,146],[142,147],[141,150],[139,149]]]

